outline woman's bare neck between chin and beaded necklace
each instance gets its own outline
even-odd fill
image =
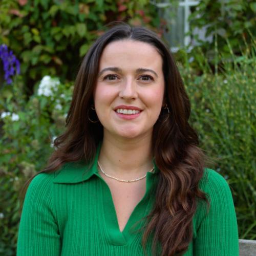
[[[152,136],[125,141],[104,136],[99,162],[109,175],[134,178],[152,169],[152,157]]]

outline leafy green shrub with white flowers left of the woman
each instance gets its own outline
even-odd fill
[[[53,140],[65,127],[73,92],[71,83],[45,76],[27,102],[19,87],[16,81],[0,119],[0,254],[6,256],[15,255],[18,195],[25,181],[46,165]]]

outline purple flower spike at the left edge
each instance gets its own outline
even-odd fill
[[[3,62],[6,83],[11,84],[11,77],[20,73],[20,63],[13,52],[8,51],[6,45],[0,45],[0,59]]]

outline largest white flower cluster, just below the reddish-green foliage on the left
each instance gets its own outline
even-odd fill
[[[58,78],[44,76],[40,81],[37,94],[44,95],[46,97],[53,96],[53,92],[57,91],[59,84],[60,82]]]

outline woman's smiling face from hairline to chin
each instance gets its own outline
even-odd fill
[[[104,136],[152,136],[163,96],[162,58],[155,47],[131,39],[105,47],[94,91]]]

